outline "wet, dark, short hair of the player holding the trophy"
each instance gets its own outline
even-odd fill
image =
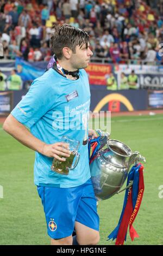
[[[63,24],[61,26],[54,25],[50,44],[52,51],[58,59],[61,59],[62,49],[68,47],[73,53],[76,53],[76,46],[80,48],[86,44],[88,47],[89,35],[83,29]]]

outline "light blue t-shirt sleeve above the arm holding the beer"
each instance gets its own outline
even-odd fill
[[[54,103],[51,86],[43,81],[34,80],[26,96],[11,111],[17,121],[31,128]]]

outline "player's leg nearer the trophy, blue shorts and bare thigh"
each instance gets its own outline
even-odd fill
[[[80,199],[75,223],[76,237],[73,245],[97,245],[99,242],[99,216],[97,200],[91,180],[85,183]]]

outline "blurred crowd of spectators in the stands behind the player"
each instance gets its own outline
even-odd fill
[[[4,59],[49,61],[54,24],[68,23],[90,35],[96,62],[162,64],[161,0],[1,0]]]

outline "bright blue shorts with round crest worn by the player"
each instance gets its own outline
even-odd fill
[[[91,179],[74,188],[37,186],[45,212],[47,233],[52,239],[71,236],[75,222],[99,230],[97,200]]]

